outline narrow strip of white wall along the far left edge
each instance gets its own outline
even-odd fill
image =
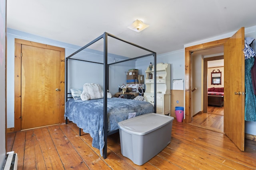
[[[5,35],[6,35],[6,0],[0,0],[0,168],[3,167],[6,149],[5,149]]]

